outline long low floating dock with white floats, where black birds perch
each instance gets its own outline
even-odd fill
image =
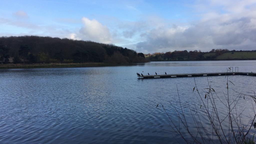
[[[167,74],[167,75],[144,75],[139,78],[175,78],[175,77],[200,77],[200,76],[225,76],[225,75],[248,75],[256,76],[256,73],[224,72],[224,73],[194,73],[194,74]]]

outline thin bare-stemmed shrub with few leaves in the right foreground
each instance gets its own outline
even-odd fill
[[[225,100],[221,100],[214,88],[211,87],[208,77],[208,88],[202,90],[205,93],[204,96],[199,93],[196,80],[194,78],[195,87],[193,92],[194,90],[197,92],[197,99],[199,102],[198,106],[196,104],[188,104],[186,108],[182,106],[177,87],[179,104],[178,106],[172,104],[175,114],[169,115],[161,103],[163,110],[170,120],[170,127],[172,130],[169,131],[176,133],[176,135],[182,138],[186,143],[254,144],[253,140],[255,130],[253,131],[252,127],[256,127],[256,123],[254,122],[256,117],[254,110],[254,106],[256,106],[255,92],[252,93],[254,95],[246,95],[236,91],[238,95],[234,98],[230,97],[229,84],[234,84],[228,80],[228,76],[225,76],[225,79],[227,79],[227,94],[223,91],[223,97]],[[251,98],[251,104],[254,111],[247,124],[244,124],[242,121],[242,113],[245,109],[241,112],[238,112],[237,109],[237,104],[242,96],[249,96]],[[226,109],[216,106],[217,101],[221,102]],[[185,109],[189,112],[186,113]],[[188,118],[190,117],[192,117],[193,125],[188,124]],[[175,122],[177,118],[178,122]],[[210,129],[208,124],[210,124]]]

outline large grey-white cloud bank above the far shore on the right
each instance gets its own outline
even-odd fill
[[[209,11],[200,15],[199,20],[187,23],[185,26],[170,26],[171,23],[152,28],[143,33],[145,40],[136,44],[140,52],[167,52],[173,50],[221,49],[255,49],[256,45],[256,11],[249,5],[252,1],[233,1],[218,3],[210,1]],[[254,1],[255,4],[255,1]],[[220,13],[221,5],[225,9]],[[234,8],[239,5],[238,9]],[[197,6],[198,8],[198,6]]]

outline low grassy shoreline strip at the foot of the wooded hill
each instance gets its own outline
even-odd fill
[[[137,65],[137,64],[108,64],[108,63],[0,64],[0,69],[101,67],[101,66],[129,66],[129,65]]]

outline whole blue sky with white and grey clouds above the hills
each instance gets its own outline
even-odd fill
[[[256,0],[1,0],[0,36],[50,36],[155,53],[256,50]]]

